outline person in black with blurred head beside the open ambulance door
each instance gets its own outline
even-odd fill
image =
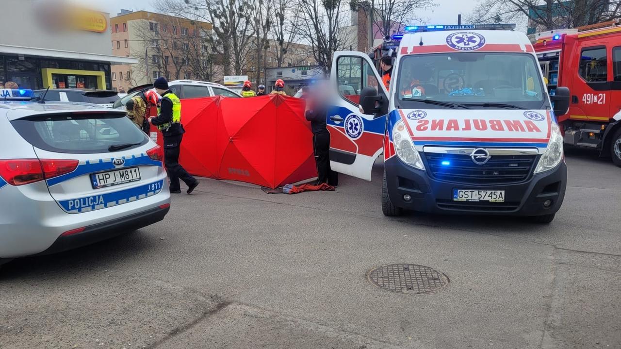
[[[325,86],[324,86],[325,87]],[[330,133],[325,126],[327,103],[325,92],[318,87],[311,91],[306,101],[306,120],[311,122],[313,152],[317,163],[317,184],[327,183],[338,186],[338,174],[330,168]]]

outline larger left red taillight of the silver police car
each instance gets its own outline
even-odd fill
[[[11,185],[22,186],[73,172],[78,162],[53,159],[0,160],[0,177]]]

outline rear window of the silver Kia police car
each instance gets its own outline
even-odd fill
[[[11,122],[37,148],[57,153],[108,153],[111,145],[148,142],[148,137],[122,114],[32,116]]]

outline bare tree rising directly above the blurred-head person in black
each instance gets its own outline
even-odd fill
[[[299,0],[296,25],[299,34],[310,45],[315,61],[330,73],[332,56],[347,42],[345,27],[347,4],[343,0]]]

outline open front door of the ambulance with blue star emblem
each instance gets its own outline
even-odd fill
[[[371,180],[371,169],[381,154],[386,134],[388,92],[368,55],[362,52],[335,52],[330,83],[338,95],[328,108],[330,166],[332,170]],[[375,115],[360,111],[360,94],[373,87],[384,101]]]

